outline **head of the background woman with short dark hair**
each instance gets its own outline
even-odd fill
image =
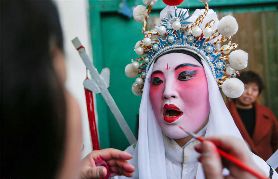
[[[264,88],[263,80],[257,73],[252,71],[242,72],[237,78],[244,83],[244,92],[240,97],[236,98],[236,104],[243,108],[252,108],[253,103]]]

